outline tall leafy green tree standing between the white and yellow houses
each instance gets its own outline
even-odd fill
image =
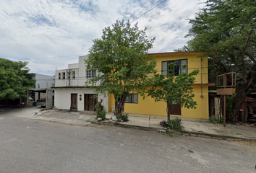
[[[93,40],[85,64],[98,75],[85,84],[95,86],[97,93],[114,94],[116,114],[122,113],[130,92],[144,95],[148,74],[155,72],[155,58],[148,56],[153,40],[147,39],[146,28],[139,30],[137,24],[131,27],[124,20],[106,27],[101,39]]]

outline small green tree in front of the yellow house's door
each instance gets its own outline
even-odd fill
[[[154,74],[151,79],[153,88],[148,90],[148,96],[155,99],[155,102],[166,102],[167,120],[170,121],[170,115],[174,105],[179,103],[181,107],[196,109],[197,102],[193,100],[195,95],[192,93],[192,84],[195,83],[195,76],[199,70],[194,70],[189,74],[179,74],[174,77],[174,63],[170,63],[170,71],[166,75]]]

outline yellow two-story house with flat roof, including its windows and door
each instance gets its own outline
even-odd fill
[[[192,85],[197,102],[197,109],[187,109],[181,105],[174,105],[171,116],[175,117],[191,117],[208,119],[208,57],[202,57],[202,52],[171,52],[171,53],[150,53],[149,56],[155,56],[157,61],[156,69],[158,73],[168,73],[168,63],[176,63],[174,76],[180,73],[189,73],[195,69],[199,69],[200,73],[196,76],[196,82]],[[182,68],[187,64],[187,68]],[[108,112],[112,111],[114,105],[113,94],[108,96]],[[140,94],[132,93],[126,99],[124,104],[124,112],[132,114],[144,115],[161,115],[167,116],[166,102],[155,102],[151,97],[143,99]]]

